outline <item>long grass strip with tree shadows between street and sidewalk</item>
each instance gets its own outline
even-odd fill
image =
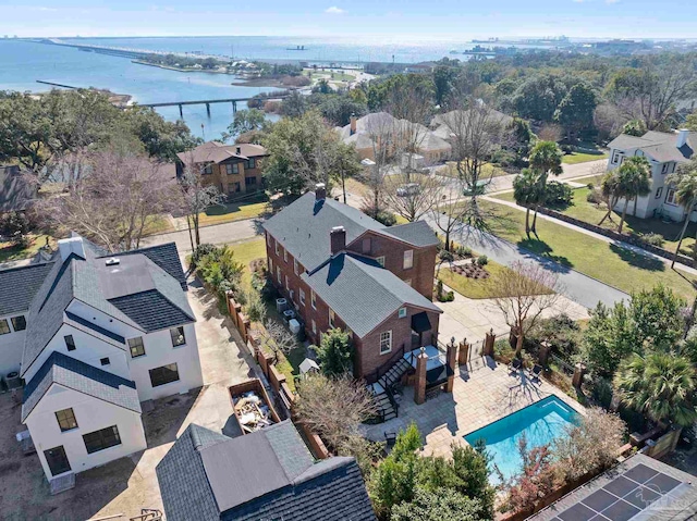
[[[696,277],[671,270],[663,261],[634,253],[582,232],[538,219],[539,239],[525,236],[525,212],[490,201],[481,201],[485,210],[498,219],[491,221],[499,237],[526,250],[573,268],[588,276],[632,293],[661,283],[677,294],[693,299]]]

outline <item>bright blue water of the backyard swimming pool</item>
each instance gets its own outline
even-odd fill
[[[498,466],[508,479],[521,471],[523,461],[518,454],[518,439],[523,434],[527,436],[528,448],[539,447],[564,436],[566,426],[575,423],[577,418],[578,413],[557,396],[549,396],[467,434],[465,441],[474,446],[478,439],[484,439],[492,457],[491,468]],[[498,475],[492,473],[490,481],[498,483]]]

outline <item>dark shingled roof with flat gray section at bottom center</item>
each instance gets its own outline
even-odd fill
[[[351,464],[352,458],[314,463],[286,420],[236,438],[189,425],[156,471],[169,521],[347,519],[342,512],[372,520]]]

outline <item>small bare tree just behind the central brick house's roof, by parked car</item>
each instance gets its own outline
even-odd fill
[[[441,194],[441,183],[428,175],[390,175],[384,179],[384,200],[398,215],[418,221],[433,209]]]

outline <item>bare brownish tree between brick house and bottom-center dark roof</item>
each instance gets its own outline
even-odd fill
[[[360,437],[358,426],[376,413],[365,384],[350,376],[313,374],[299,381],[296,390],[293,412],[337,452]]]

